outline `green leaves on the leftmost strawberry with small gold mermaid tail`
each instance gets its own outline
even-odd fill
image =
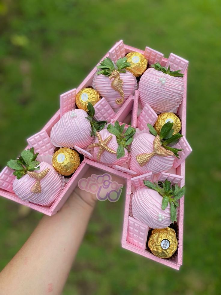
[[[28,171],[39,170],[39,161],[35,161],[38,156],[38,153],[35,154],[34,148],[24,150],[20,157],[16,160],[10,160],[7,163],[7,166],[14,171],[13,175],[20,179]]]

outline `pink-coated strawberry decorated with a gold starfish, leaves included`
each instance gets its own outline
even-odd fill
[[[132,143],[135,128],[121,125],[118,121],[114,126],[109,124],[107,129],[97,132],[94,143],[88,146],[93,149],[93,155],[96,161],[108,164],[119,165],[128,159],[128,147]]]

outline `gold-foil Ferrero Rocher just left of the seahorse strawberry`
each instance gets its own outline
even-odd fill
[[[94,106],[100,99],[100,94],[95,89],[83,88],[77,93],[75,103],[78,109],[83,109],[87,112],[87,104],[90,102]]]

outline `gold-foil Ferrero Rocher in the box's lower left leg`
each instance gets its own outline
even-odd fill
[[[52,164],[58,173],[67,176],[80,165],[80,157],[76,151],[65,147],[53,154]]]

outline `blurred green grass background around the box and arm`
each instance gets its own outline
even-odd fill
[[[218,294],[220,3],[216,0],[0,1],[0,168],[120,39],[189,60],[183,266],[120,247],[123,203],[96,207],[63,294]],[[0,269],[41,218],[0,200]]]

